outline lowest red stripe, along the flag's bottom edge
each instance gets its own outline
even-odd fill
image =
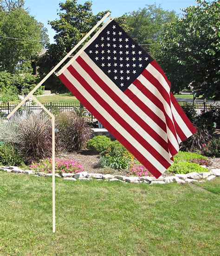
[[[123,144],[125,148],[127,148],[138,160],[141,162],[146,168],[150,168],[150,172],[155,176],[155,178],[159,178],[162,173],[155,168],[153,164],[151,164],[129,141],[127,141],[123,135],[121,135],[116,128],[114,128],[98,111],[95,109],[89,101],[87,101],[84,96],[73,86],[73,84],[65,77],[64,74],[60,74],[59,79],[65,84],[65,86],[71,91],[73,95],[77,97],[77,99],[87,108],[92,115],[94,115],[103,125],[104,127],[112,133],[115,138]]]

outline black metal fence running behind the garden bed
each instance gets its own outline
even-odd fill
[[[48,108],[49,110],[54,110],[57,109],[59,111],[74,111],[76,110],[76,108],[80,107],[80,103],[76,102],[76,103],[43,103],[44,106],[46,108]],[[197,115],[201,115],[202,111],[207,111],[210,108],[219,108],[220,109],[220,104],[219,103],[191,103],[191,102],[179,102],[179,104],[181,105],[181,107],[183,106],[191,106],[195,109]],[[6,116],[16,107],[16,104],[11,104],[11,103],[2,103],[0,104],[0,116],[3,116],[3,118],[6,118]],[[26,109],[34,112],[34,113],[38,113],[40,112],[42,109],[39,105],[35,104],[35,103],[26,103]],[[91,115],[88,112],[88,116],[91,117],[92,121],[95,119],[93,115]]]

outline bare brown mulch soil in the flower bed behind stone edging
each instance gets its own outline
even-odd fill
[[[102,173],[102,174],[113,174],[113,175],[129,175],[129,172],[126,170],[119,171],[112,168],[101,168],[99,165],[98,159],[99,155],[94,154],[90,150],[83,150],[81,152],[72,152],[72,153],[63,153],[59,155],[59,158],[73,159],[81,162],[84,166],[84,170],[88,173]],[[211,165],[207,167],[208,169],[217,169],[220,168],[220,158],[211,158],[209,157]],[[169,176],[166,172],[163,174],[163,177]]]

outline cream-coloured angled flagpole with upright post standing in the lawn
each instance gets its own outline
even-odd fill
[[[33,95],[34,92],[64,63],[64,61],[86,40],[92,32],[110,15],[110,12],[106,13],[104,17],[97,22],[97,24],[88,32],[78,44],[71,49],[71,51],[66,54],[66,56],[39,82],[39,84],[32,89],[32,91],[26,95],[26,97],[18,104],[16,108],[13,109],[7,119],[9,119],[30,97],[35,101],[52,119],[52,231],[56,232],[56,215],[55,215],[55,116],[47,109],[43,104],[41,104],[36,97]],[[101,28],[100,28],[101,29]]]

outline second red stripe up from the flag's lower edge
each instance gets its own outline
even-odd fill
[[[69,72],[75,77],[75,79],[84,85],[87,92],[89,92],[94,99],[112,116],[114,119],[125,129],[128,133],[130,133],[136,141],[138,141],[143,148],[148,148],[151,152],[151,155],[157,159],[165,168],[170,166],[169,162],[152,146],[150,145],[144,138],[132,127],[128,122],[126,122],[104,99],[88,84],[88,82],[78,73],[78,71],[73,67],[67,67]],[[110,131],[111,132],[111,131]],[[149,151],[148,150],[148,151]]]

